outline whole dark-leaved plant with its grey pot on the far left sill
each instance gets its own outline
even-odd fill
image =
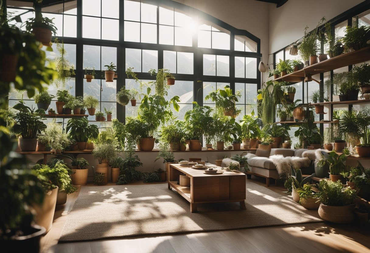
[[[36,136],[37,134],[41,134],[41,131],[46,128],[41,118],[44,110],[37,109],[35,111],[23,103],[16,104],[13,108],[19,111],[14,117],[15,124],[13,131],[20,136],[18,143],[21,151],[36,151]]]

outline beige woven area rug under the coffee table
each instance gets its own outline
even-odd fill
[[[82,186],[59,242],[322,222],[317,211],[249,181],[245,205],[198,204],[191,213],[167,184]]]

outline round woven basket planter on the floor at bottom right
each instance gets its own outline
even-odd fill
[[[354,221],[355,205],[327,206],[320,204],[319,216],[321,219],[334,223],[351,223]]]

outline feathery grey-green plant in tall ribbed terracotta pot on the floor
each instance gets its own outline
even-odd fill
[[[98,143],[95,145],[92,155],[98,159],[96,173],[104,174],[103,185],[108,183],[108,163],[116,157],[116,151],[112,143]]]

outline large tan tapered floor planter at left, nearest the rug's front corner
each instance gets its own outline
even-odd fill
[[[53,225],[55,205],[57,204],[58,187],[45,194],[44,203],[41,206],[33,205],[36,212],[36,224],[45,227],[46,233]]]

